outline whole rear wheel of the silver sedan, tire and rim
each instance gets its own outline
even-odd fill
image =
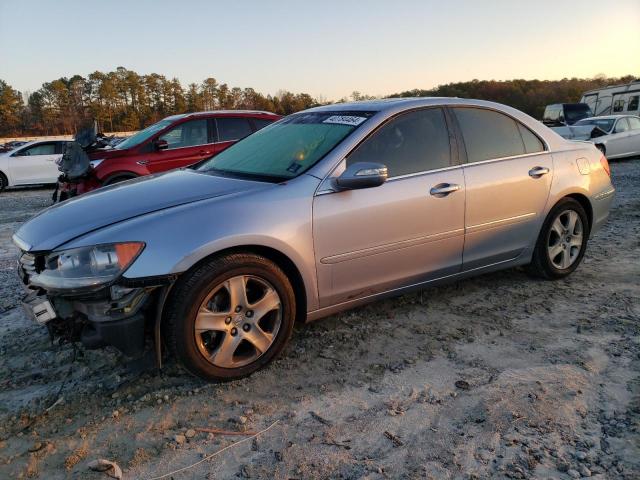
[[[573,198],[563,198],[542,225],[527,271],[547,280],[570,275],[584,257],[589,231],[589,218],[582,205]]]

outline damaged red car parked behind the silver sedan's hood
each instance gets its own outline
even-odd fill
[[[217,110],[167,117],[114,148],[89,153],[92,167],[89,173],[78,182],[60,182],[60,198],[192,165],[280,118],[274,113],[252,110]]]

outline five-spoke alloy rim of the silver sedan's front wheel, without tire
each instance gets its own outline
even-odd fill
[[[214,287],[195,320],[196,345],[221,368],[248,365],[273,344],[282,323],[282,302],[268,281],[237,275]]]

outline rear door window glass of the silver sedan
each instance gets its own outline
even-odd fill
[[[525,153],[524,142],[515,120],[492,110],[455,108],[467,161],[512,157]]]

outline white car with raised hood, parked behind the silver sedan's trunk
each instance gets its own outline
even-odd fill
[[[574,129],[598,127],[606,133],[606,135],[586,140],[594,143],[609,160],[640,155],[640,117],[635,115],[590,117],[576,122],[573,127]]]

